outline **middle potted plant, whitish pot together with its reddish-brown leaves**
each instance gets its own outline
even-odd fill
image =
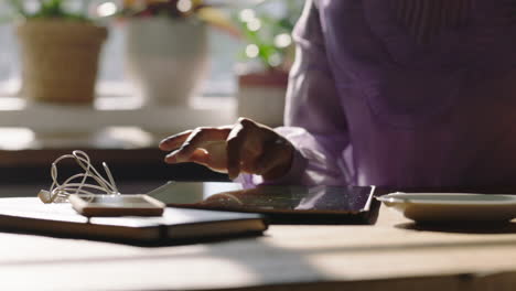
[[[127,69],[153,106],[186,106],[205,77],[207,25],[230,28],[202,0],[125,0]]]

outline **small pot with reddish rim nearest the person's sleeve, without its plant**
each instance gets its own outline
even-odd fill
[[[270,127],[283,125],[289,74],[267,71],[238,76],[238,116]]]

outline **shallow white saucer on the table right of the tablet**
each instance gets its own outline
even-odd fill
[[[508,222],[516,218],[516,195],[397,192],[377,200],[417,222]]]

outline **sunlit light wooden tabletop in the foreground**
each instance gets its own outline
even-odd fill
[[[266,236],[143,248],[0,234],[0,290],[515,290],[516,222],[422,229],[271,226]]]

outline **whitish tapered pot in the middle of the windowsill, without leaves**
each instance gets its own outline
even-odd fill
[[[206,73],[206,25],[164,17],[131,19],[126,62],[147,104],[186,106]]]

